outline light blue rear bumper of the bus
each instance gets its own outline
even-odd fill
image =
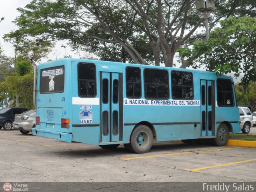
[[[33,133],[33,135],[37,135],[37,136],[41,136],[41,137],[58,139],[58,140],[65,141],[68,143],[72,142],[72,134],[71,133],[56,132],[56,131],[37,129],[37,128],[32,128],[32,133]]]

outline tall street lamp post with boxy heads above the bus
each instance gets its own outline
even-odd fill
[[[215,9],[214,0],[200,0],[196,2],[196,10],[198,12],[204,12],[205,30],[206,30],[206,40],[209,39],[209,26],[208,26],[208,14]]]

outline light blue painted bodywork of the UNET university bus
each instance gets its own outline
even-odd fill
[[[96,94],[92,97],[81,97],[78,94],[78,64],[89,63],[96,67]],[[157,141],[185,140],[196,138],[213,138],[220,123],[228,122],[232,125],[234,133],[240,131],[238,124],[239,110],[234,106],[221,107],[217,105],[217,79],[232,80],[228,76],[219,76],[212,72],[186,70],[179,68],[165,68],[156,66],[144,66],[124,64],[116,62],[62,59],[45,64],[40,64],[40,70],[45,68],[65,67],[64,92],[52,94],[37,93],[37,116],[40,116],[40,125],[33,129],[33,134],[55,138],[66,142],[76,141],[93,145],[129,143],[132,130],[137,124],[146,122],[151,124]],[[141,70],[141,97],[126,97],[126,67],[139,67]],[[144,69],[168,70],[169,95],[166,100],[145,99],[144,95]],[[192,72],[194,98],[192,100],[175,100],[172,98],[172,84],[170,74],[172,71]],[[108,80],[109,102],[103,103],[103,81]],[[53,79],[54,80],[54,79]],[[118,80],[122,84],[119,92],[119,100],[114,103],[113,83]],[[212,118],[212,130],[202,130],[202,82],[213,90],[214,104],[208,105],[208,111],[214,114]],[[40,75],[38,75],[37,89],[40,90]],[[234,86],[233,86],[233,95]],[[50,102],[49,102],[50,101]],[[206,102],[207,102],[206,98]],[[120,102],[120,103],[119,103]],[[119,106],[119,107],[118,107]],[[120,108],[120,106],[122,106]],[[108,134],[103,134],[103,113],[108,111]],[[118,134],[113,134],[113,112],[118,112]],[[207,112],[208,112],[207,111]],[[48,116],[48,118],[47,118]],[[53,116],[53,119],[51,119]],[[70,128],[61,128],[61,119],[70,119]],[[206,122],[207,127],[209,122]],[[106,128],[106,127],[105,127]],[[37,133],[36,133],[37,130]],[[61,138],[59,135],[63,135]]]

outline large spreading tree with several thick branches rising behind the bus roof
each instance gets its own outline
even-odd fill
[[[223,18],[256,16],[254,0],[216,0],[210,30]],[[204,26],[196,0],[32,0],[14,23],[13,33],[38,41],[69,40],[104,60],[173,66]],[[191,63],[180,54],[182,68]],[[196,59],[196,58],[194,58]]]

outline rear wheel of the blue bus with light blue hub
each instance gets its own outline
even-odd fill
[[[124,144],[130,152],[134,153],[146,153],[153,144],[153,133],[151,129],[146,125],[139,125],[136,127],[130,137],[130,143]]]

